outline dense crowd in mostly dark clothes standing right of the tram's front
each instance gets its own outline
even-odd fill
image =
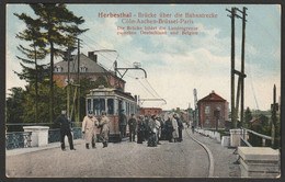
[[[129,128],[129,141],[135,141],[137,135],[137,144],[147,141],[149,147],[160,145],[159,140],[166,139],[170,143],[182,141],[183,123],[176,113],[168,114],[164,118],[158,115],[140,115],[136,120],[135,115],[127,121],[124,110],[119,113],[118,118],[121,137],[126,135],[126,126]]]

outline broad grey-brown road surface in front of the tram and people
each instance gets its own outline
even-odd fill
[[[7,157],[7,174],[14,177],[65,178],[206,178],[208,156],[186,133],[182,143],[161,141],[158,147],[122,141],[96,149],[84,148],[83,141],[76,151],[60,148]]]

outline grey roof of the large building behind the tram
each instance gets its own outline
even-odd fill
[[[78,55],[72,56],[71,59],[72,60],[69,64],[69,70],[70,70],[70,73],[76,73],[78,71]],[[58,66],[60,66],[62,69],[60,72],[55,72],[55,75],[68,72],[68,61],[61,60],[61,61],[55,64],[55,67],[58,67]],[[110,75],[116,77],[114,71],[106,70],[102,65],[98,64],[95,60],[92,60],[91,58],[89,58],[87,55],[84,55],[82,53],[80,54],[80,67],[87,68],[84,73],[110,73]],[[116,77],[116,78],[118,78],[118,77]],[[118,79],[121,79],[121,78],[118,78]],[[121,79],[121,80],[123,80],[123,79]]]

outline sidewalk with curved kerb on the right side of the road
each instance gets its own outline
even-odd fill
[[[192,134],[191,130],[189,133],[212,151],[214,157],[214,178],[240,178],[239,164],[235,163],[237,161],[237,157],[233,155],[236,149],[223,147],[217,140],[198,133]]]

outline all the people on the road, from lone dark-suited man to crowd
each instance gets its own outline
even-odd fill
[[[60,143],[61,149],[65,149],[65,136],[68,137],[70,150],[76,150],[73,147],[70,122],[67,117],[66,110],[61,111],[61,115],[55,121],[60,127]],[[159,115],[140,115],[138,118],[132,114],[127,120],[124,110],[119,112],[118,126],[121,138],[126,136],[126,126],[129,128],[129,141],[135,141],[137,135],[137,144],[147,141],[149,147],[157,147],[160,140],[169,140],[169,143],[181,143],[183,123],[176,113],[169,113],[164,117]],[[86,148],[95,148],[96,130],[100,130],[100,140],[103,148],[107,147],[110,134],[110,120],[106,112],[102,112],[99,120],[93,116],[93,112],[89,111],[88,115],[82,122],[82,134],[86,140]]]

